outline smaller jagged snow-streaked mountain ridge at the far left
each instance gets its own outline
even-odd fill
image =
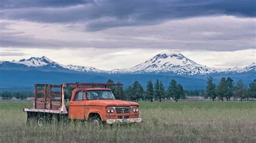
[[[32,69],[62,69],[62,70],[72,70],[72,71],[83,71],[83,72],[93,72],[102,73],[104,70],[100,70],[93,67],[83,67],[74,65],[61,65],[58,62],[52,61],[46,56],[41,58],[31,57],[30,59],[22,59],[19,61],[0,61],[0,67],[12,67],[12,68],[32,68]]]

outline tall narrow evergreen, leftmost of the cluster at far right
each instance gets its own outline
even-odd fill
[[[216,85],[213,83],[213,78],[207,77],[207,87],[206,87],[206,93],[205,93],[205,98],[210,97],[212,99],[212,101],[214,101],[216,99],[216,94],[215,94],[215,90],[216,90]]]

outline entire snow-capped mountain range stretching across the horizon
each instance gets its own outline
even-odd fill
[[[41,58],[31,57],[19,61],[0,61],[0,69],[19,70],[58,70],[58,71],[80,71],[86,73],[107,73],[107,74],[173,74],[173,75],[206,75],[214,73],[244,73],[255,72],[256,63],[244,68],[214,69],[200,65],[180,53],[158,54],[152,59],[146,60],[139,65],[125,69],[113,69],[110,71],[100,70],[94,67],[84,67],[75,65],[61,65],[45,56]]]

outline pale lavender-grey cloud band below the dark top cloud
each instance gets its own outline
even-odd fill
[[[237,51],[255,48],[254,18],[200,17],[95,32],[83,32],[83,24],[36,24],[31,25],[31,30],[26,27],[29,26],[27,23],[0,22],[0,25],[1,46],[12,48],[158,48],[191,51]],[[22,32],[11,28],[17,28],[17,25]],[[23,31],[23,27],[26,30]],[[39,28],[35,30],[35,27]],[[55,32],[54,37],[52,32]]]

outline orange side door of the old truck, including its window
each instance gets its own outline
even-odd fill
[[[85,119],[84,116],[84,91],[77,91],[75,97],[69,103],[69,118],[70,119]]]

